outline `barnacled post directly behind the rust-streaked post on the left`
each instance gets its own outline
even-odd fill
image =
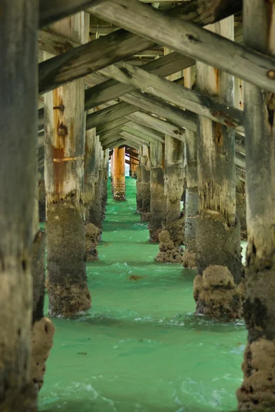
[[[85,141],[85,183],[83,200],[85,206],[86,260],[88,262],[98,260],[98,250],[96,247],[98,245],[98,240],[100,240],[100,227],[98,226],[98,220],[96,220],[96,212],[99,205],[99,200],[96,196],[99,150],[100,143],[98,136],[96,136],[96,128],[87,130]]]

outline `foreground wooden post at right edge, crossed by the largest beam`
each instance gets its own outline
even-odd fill
[[[243,41],[275,55],[275,3],[243,2]],[[261,29],[261,30],[260,30]],[[243,315],[248,328],[241,411],[275,409],[275,124],[274,93],[245,83],[246,203],[248,249]]]

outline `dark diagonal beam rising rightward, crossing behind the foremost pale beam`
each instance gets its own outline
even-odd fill
[[[44,2],[46,3],[46,0]],[[176,16],[177,19],[191,19],[192,21],[194,19],[197,24],[203,25],[223,19],[235,12],[235,10],[240,11],[241,7],[241,2],[237,0],[234,0],[233,5],[228,0],[219,0],[218,3],[217,0],[208,2],[194,0],[190,3],[192,4],[183,4],[177,8],[172,8],[166,14],[168,16]],[[52,90],[55,87],[61,86],[61,84],[80,76],[85,76],[92,71],[107,67],[127,56],[155,46],[155,43],[152,43],[152,41],[135,34],[130,34],[124,30],[118,30],[91,43],[96,44],[77,47],[65,53],[62,57],[57,56],[50,59],[47,63],[43,62],[43,65],[41,63],[41,66],[39,66],[39,78],[41,78],[41,82],[39,81],[39,92],[45,93],[45,91]],[[188,60],[188,65],[192,64],[190,58]]]

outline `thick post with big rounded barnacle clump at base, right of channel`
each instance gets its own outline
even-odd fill
[[[234,19],[208,27],[233,38]],[[233,77],[197,62],[197,87],[234,104]],[[199,117],[199,218],[197,268],[194,281],[196,312],[216,318],[241,317],[242,279],[240,225],[236,216],[234,130]]]

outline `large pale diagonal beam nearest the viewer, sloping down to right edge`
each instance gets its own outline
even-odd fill
[[[97,1],[89,11],[176,52],[275,92],[275,58],[272,56],[254,52],[189,21],[171,19],[136,0]]]

